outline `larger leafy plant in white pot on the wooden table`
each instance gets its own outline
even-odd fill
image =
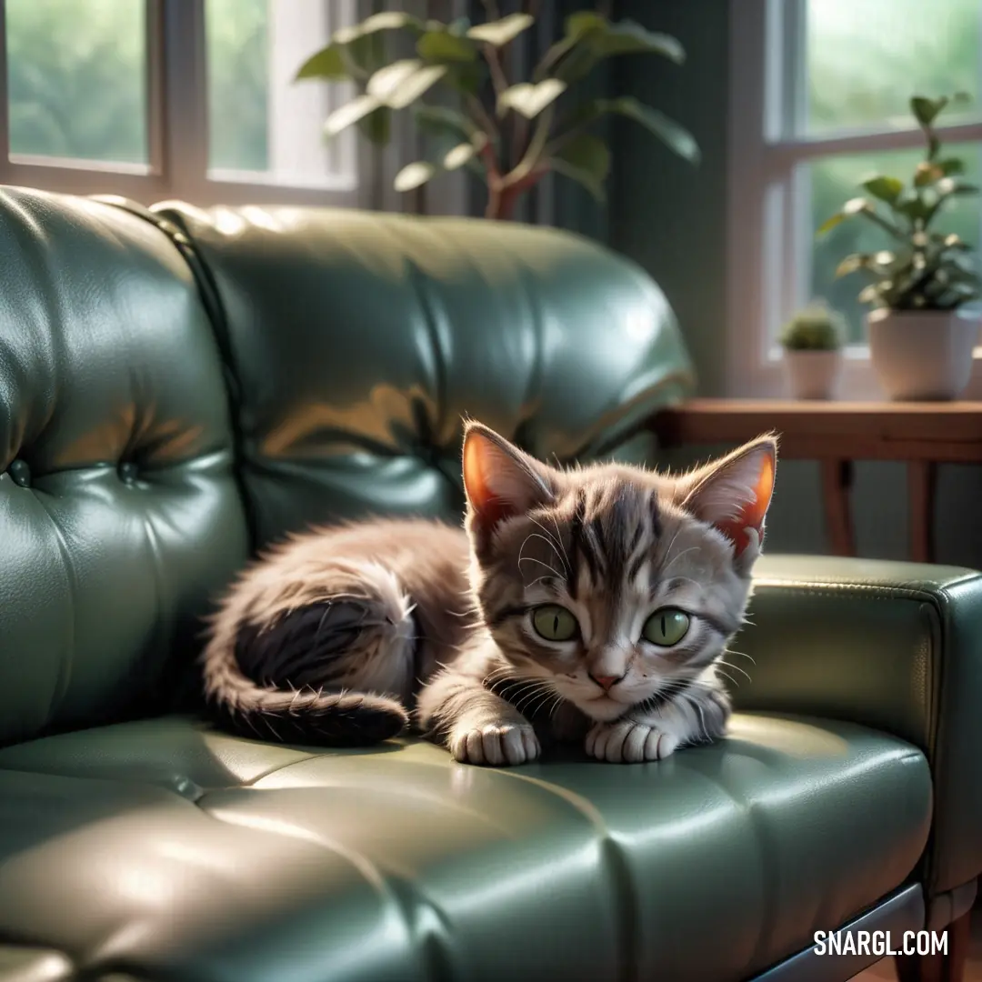
[[[978,300],[979,277],[971,246],[934,227],[955,197],[978,193],[961,180],[963,161],[942,155],[935,132],[946,106],[964,99],[914,96],[910,108],[927,154],[910,185],[895,177],[872,177],[862,187],[876,203],[854,197],[819,229],[823,235],[858,216],[893,240],[878,252],[846,256],[837,276],[859,273],[871,281],[859,294],[859,300],[873,306],[866,318],[870,358],[894,400],[956,399],[971,375],[979,317],[963,307]]]

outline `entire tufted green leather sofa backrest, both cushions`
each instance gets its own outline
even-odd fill
[[[0,744],[167,705],[288,530],[458,520],[464,414],[615,456],[690,381],[650,278],[573,236],[0,189]]]

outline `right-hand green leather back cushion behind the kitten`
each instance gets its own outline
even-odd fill
[[[584,239],[347,209],[154,211],[190,237],[212,297],[258,545],[365,513],[458,520],[464,414],[540,458],[589,458],[691,388],[661,291]]]

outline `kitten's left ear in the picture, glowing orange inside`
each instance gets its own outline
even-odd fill
[[[553,498],[542,464],[475,422],[464,430],[464,491],[472,515],[489,530]]]

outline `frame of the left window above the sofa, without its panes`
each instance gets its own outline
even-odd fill
[[[148,163],[124,164],[10,154],[6,0],[0,0],[0,185],[73,194],[118,194],[144,204],[181,199],[211,205],[303,205],[377,207],[382,173],[388,168],[355,133],[340,151],[353,164],[352,179],[323,184],[230,180],[209,175],[206,0],[144,0],[146,5]],[[275,0],[271,0],[275,2]],[[323,0],[337,10],[338,0]],[[361,20],[373,0],[342,0]],[[356,145],[356,149],[355,149]],[[398,156],[397,151],[397,156]],[[226,172],[227,173],[227,172]],[[400,210],[397,208],[397,210]]]

